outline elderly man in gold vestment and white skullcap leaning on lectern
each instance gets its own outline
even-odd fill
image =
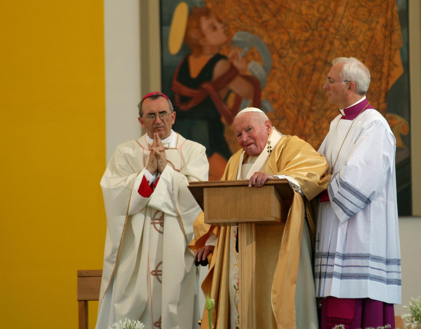
[[[286,178],[295,191],[285,229],[281,225],[261,226],[265,244],[270,247],[260,260],[261,266],[256,263],[256,290],[267,296],[256,301],[258,327],[317,329],[311,261],[315,225],[309,200],[328,186],[328,162],[304,140],[280,134],[257,108],[240,111],[233,126],[242,150],[229,159],[222,180],[249,179],[249,187],[255,188],[267,179]],[[201,216],[194,230],[190,247],[197,260],[210,259],[202,290],[216,302],[212,326],[203,316],[201,328],[238,328],[238,268],[242,260],[235,250],[237,227],[211,226]]]

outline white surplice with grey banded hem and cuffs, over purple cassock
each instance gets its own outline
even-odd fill
[[[396,141],[374,109],[362,112],[354,124],[340,118],[332,121],[319,149],[330,167],[338,159],[328,187],[330,201],[320,203],[318,211],[317,297],[368,297],[400,304]]]

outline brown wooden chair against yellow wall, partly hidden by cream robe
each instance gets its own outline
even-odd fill
[[[88,329],[88,300],[99,300],[102,270],[77,271],[79,329]]]

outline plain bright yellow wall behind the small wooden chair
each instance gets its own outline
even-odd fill
[[[102,268],[105,235],[103,1],[1,8],[1,325],[77,328],[76,271]]]

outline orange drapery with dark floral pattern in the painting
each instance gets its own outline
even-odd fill
[[[395,0],[207,0],[231,35],[258,35],[272,55],[272,71],[262,90],[274,108],[268,113],[282,134],[294,134],[316,149],[338,114],[322,88],[331,61],[356,57],[371,72],[367,97],[383,115],[392,84],[402,74],[402,35]],[[229,53],[226,46],[222,53]],[[253,48],[246,58],[259,61]],[[238,149],[229,136],[232,151]]]

